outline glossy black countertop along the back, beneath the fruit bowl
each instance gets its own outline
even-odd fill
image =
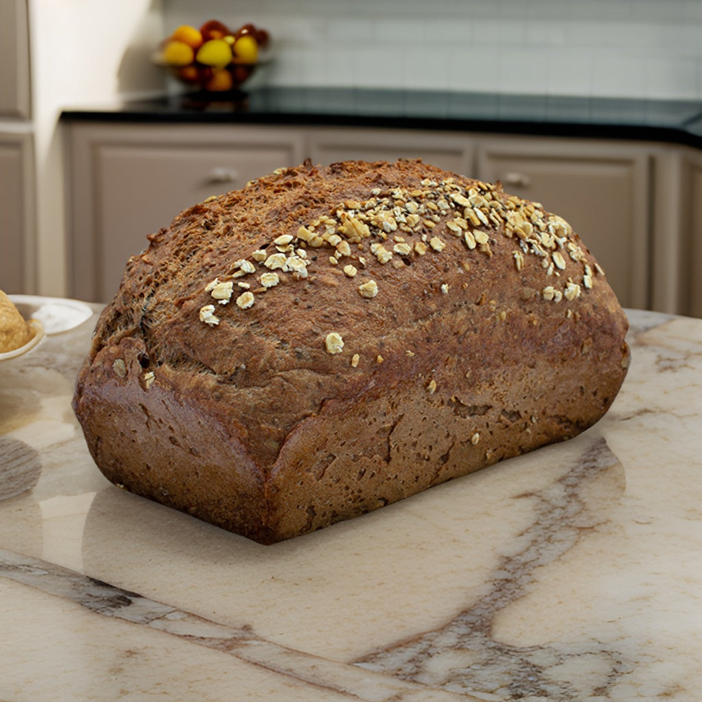
[[[252,88],[66,108],[62,121],[375,126],[588,136],[702,148],[702,101],[370,88]]]

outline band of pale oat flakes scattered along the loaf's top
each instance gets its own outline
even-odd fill
[[[281,169],[277,175],[283,177],[285,173],[286,169]],[[333,204],[328,212],[298,225],[294,231],[274,232],[267,246],[230,263],[230,272],[209,282],[205,291],[219,305],[226,305],[232,297],[232,279],[242,279],[239,286],[245,287],[249,286],[244,282],[246,277],[252,276],[256,277],[254,286],[259,284],[253,292],[270,295],[290,279],[307,279],[319,266],[336,266],[342,259],[339,267],[350,282],[366,267],[369,255],[380,264],[402,268],[413,258],[446,256],[447,241],[453,237],[463,244],[466,270],[472,257],[494,255],[491,243],[494,246],[496,237],[511,239],[517,272],[524,270],[529,257],[536,258],[545,278],[534,296],[552,303],[576,300],[592,289],[595,274],[603,273],[599,265],[588,264],[570,225],[547,213],[538,202],[505,195],[500,187],[480,181],[466,184],[452,177],[440,181],[426,178],[420,185],[374,187],[366,199]],[[320,256],[317,249],[329,253]],[[581,265],[579,277],[571,274],[569,260]],[[446,286],[439,289],[448,291]],[[380,294],[372,279],[362,280],[357,290],[369,300]],[[253,306],[253,292],[247,289],[236,299],[240,310]],[[520,297],[530,299],[521,293]],[[201,307],[201,322],[219,324],[215,309],[214,305]],[[340,343],[330,342],[330,336],[336,339],[338,334],[327,336],[327,351],[340,353],[343,341],[338,336]]]

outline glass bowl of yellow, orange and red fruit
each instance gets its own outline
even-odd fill
[[[161,42],[154,61],[190,88],[230,93],[251,77],[269,41],[268,32],[252,24],[232,31],[208,20],[199,28],[180,25]]]

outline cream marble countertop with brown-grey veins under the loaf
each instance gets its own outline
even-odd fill
[[[0,700],[697,702],[702,320],[628,314],[583,435],[273,546],[98,472],[94,316],[0,362]]]

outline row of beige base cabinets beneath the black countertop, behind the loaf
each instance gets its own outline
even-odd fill
[[[146,235],[209,195],[242,187],[251,178],[298,164],[305,157],[323,164],[421,157],[466,176],[501,180],[510,194],[540,201],[581,234],[624,306],[651,305],[655,150],[647,144],[226,124],[75,122],[68,133],[69,279],[70,293],[78,298],[110,299],[124,263],[145,247]]]

